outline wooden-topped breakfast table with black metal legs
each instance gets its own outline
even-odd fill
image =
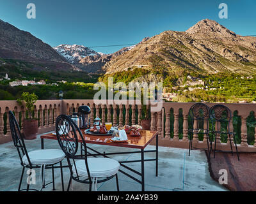
[[[120,165],[124,167],[126,170],[129,170],[133,173],[136,173],[137,175],[141,176],[141,180],[136,179],[129,173],[125,172],[124,170],[119,170],[121,173],[124,173],[127,177],[130,177],[131,179],[135,180],[136,182],[141,184],[141,191],[145,191],[145,170],[144,170],[144,162],[145,161],[156,161],[156,177],[158,175],[158,132],[157,131],[147,131],[147,130],[142,130],[140,131],[141,136],[131,136],[127,134],[127,142],[122,142],[122,143],[116,143],[116,142],[111,142],[110,138],[111,136],[92,136],[84,133],[84,129],[81,129],[81,132],[83,133],[83,137],[86,143],[92,143],[92,144],[97,144],[97,145],[109,145],[109,146],[114,146],[114,147],[126,147],[126,148],[131,148],[131,149],[138,149],[134,150],[132,152],[99,152],[98,150],[92,149],[92,147],[88,147],[88,149],[93,151],[93,154],[88,152],[88,156],[103,156],[103,157],[108,157],[110,155],[115,155],[115,154],[141,154],[141,159],[138,160],[128,160],[128,161],[119,161]],[[79,136],[79,135],[78,135]],[[156,138],[156,149],[155,150],[144,150],[147,145],[152,142],[152,140]],[[41,136],[41,147],[44,149],[44,139],[49,139],[49,140],[57,140],[56,136],[52,135],[51,133],[47,135],[42,135]],[[81,151],[82,151],[82,140],[81,138],[78,138],[78,141],[81,143]],[[156,152],[156,158],[154,159],[145,159],[144,153],[145,152]],[[82,154],[82,152],[81,152]],[[140,162],[141,163],[141,172],[133,170],[129,166],[126,166],[124,163],[136,163]]]

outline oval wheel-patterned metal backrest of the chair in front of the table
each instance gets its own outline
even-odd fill
[[[87,161],[87,148],[86,142],[84,141],[83,134],[81,130],[78,128],[77,124],[68,116],[68,115],[59,115],[56,119],[56,136],[58,143],[65,153],[68,161],[68,167],[70,169],[70,173],[74,179],[79,180],[79,176],[76,168],[76,159],[84,159],[86,170],[88,173],[88,179],[92,182],[90,177],[90,171],[88,167]],[[83,143],[83,155],[78,155],[77,150],[79,147],[78,140],[82,140]],[[73,161],[76,172],[72,171],[72,163]],[[73,173],[76,173],[77,177],[74,177]]]

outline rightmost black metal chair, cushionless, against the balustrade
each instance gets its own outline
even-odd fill
[[[217,141],[217,135],[223,134],[228,135],[230,140],[230,149],[233,155],[233,148],[232,148],[232,142],[230,135],[233,135],[234,143],[236,146],[236,153],[237,153],[237,159],[239,161],[239,152],[237,150],[237,144],[236,144],[236,133],[230,132],[230,120],[232,119],[232,113],[230,109],[227,106],[224,105],[214,105],[210,109],[210,120],[212,122],[212,131],[211,133],[215,134],[215,142],[214,142],[214,158],[215,158],[215,152],[216,152],[216,141]],[[215,129],[214,128],[214,122],[215,122]],[[221,130],[221,122],[227,122],[227,131]],[[212,151],[212,142],[211,142],[211,150]]]

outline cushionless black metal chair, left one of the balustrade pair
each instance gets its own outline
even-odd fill
[[[206,135],[207,138],[207,148],[208,148],[208,154],[210,154],[209,150],[209,115],[210,115],[210,109],[207,105],[204,103],[195,103],[191,108],[189,109],[189,116],[191,118],[191,126],[192,128],[188,130],[189,133],[189,156],[190,156],[190,150],[193,149],[193,135],[200,133]],[[207,122],[206,129],[200,128],[204,122]],[[199,149],[199,148],[195,148]]]

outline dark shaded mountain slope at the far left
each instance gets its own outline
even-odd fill
[[[0,20],[0,57],[35,62],[42,69],[42,64],[50,69],[76,69],[50,45],[3,20]]]

